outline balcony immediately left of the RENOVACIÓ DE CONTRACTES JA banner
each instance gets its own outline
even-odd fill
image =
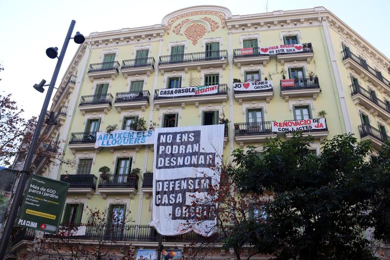
[[[268,138],[275,138],[272,132],[272,121],[234,123],[234,140],[244,148],[245,143],[265,142]]]

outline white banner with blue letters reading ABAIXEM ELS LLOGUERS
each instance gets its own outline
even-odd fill
[[[154,129],[146,131],[116,130],[112,131],[110,134],[107,134],[106,132],[98,132],[95,148],[120,145],[153,144],[154,141]]]

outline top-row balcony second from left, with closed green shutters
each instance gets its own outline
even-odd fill
[[[123,60],[120,71],[126,79],[128,76],[136,74],[146,74],[150,77],[150,74],[155,71],[155,58]]]

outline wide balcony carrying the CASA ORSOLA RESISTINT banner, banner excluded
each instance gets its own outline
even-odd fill
[[[185,108],[185,105],[195,104],[195,107],[198,108],[200,103],[220,103],[226,102],[228,98],[228,85],[219,84],[216,94],[206,94],[206,95],[190,95],[190,96],[181,96],[181,97],[159,97],[158,93],[162,89],[156,89],[155,98],[153,102],[156,105],[156,109],[159,110],[160,106],[172,106],[172,105],[181,105],[182,108]]]

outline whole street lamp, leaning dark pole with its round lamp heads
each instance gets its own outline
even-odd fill
[[[63,58],[65,56],[66,49],[68,48],[69,40],[74,39],[74,41],[78,44],[83,43],[85,40],[84,36],[82,34],[80,34],[79,32],[77,32],[73,38],[71,37],[73,29],[75,28],[75,24],[76,24],[76,21],[72,20],[72,22],[70,23],[69,29],[68,29],[68,33],[66,34],[64,43],[62,45],[61,53],[59,54],[59,56],[58,56],[58,48],[57,47],[50,47],[46,50],[46,55],[49,58],[51,58],[51,59],[58,58],[57,65],[56,65],[56,68],[54,69],[52,80],[50,81],[50,84],[49,84],[49,88],[47,89],[45,101],[43,102],[42,110],[40,111],[40,114],[39,114],[39,119],[37,122],[37,126],[34,130],[34,136],[33,136],[33,139],[31,140],[31,143],[30,143],[30,149],[28,150],[26,160],[24,162],[23,170],[20,171],[20,180],[19,180],[16,192],[15,192],[14,201],[12,202],[11,209],[10,209],[10,212],[8,215],[8,219],[7,219],[6,225],[4,227],[3,235],[2,235],[1,241],[0,241],[0,259],[4,258],[5,251],[7,250],[7,245],[8,245],[8,241],[10,239],[11,231],[12,231],[12,228],[14,226],[14,222],[16,220],[16,215],[18,213],[18,208],[19,208],[21,199],[23,197],[23,189],[24,189],[24,186],[26,185],[26,181],[27,181],[29,175],[31,174],[29,172],[29,170],[30,170],[30,166],[31,166],[31,161],[33,159],[33,156],[35,154],[35,150],[37,148],[40,129],[42,128],[43,120],[45,119],[45,116],[47,115],[46,114],[47,107],[49,106],[50,98],[51,98],[52,93],[53,93],[54,85],[56,84],[56,81],[57,81],[59,69],[61,68],[61,64],[62,64]],[[46,83],[46,80],[41,80],[39,84],[34,85],[34,88],[36,90],[38,90],[39,92],[43,93],[43,91],[44,91],[43,86],[45,86],[45,83]],[[46,121],[49,124],[55,123],[56,118],[55,118],[54,112],[53,112],[53,114],[50,113],[49,119],[47,119]]]

